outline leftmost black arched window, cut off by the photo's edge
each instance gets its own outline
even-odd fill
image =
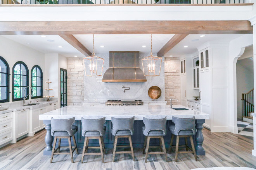
[[[9,102],[10,68],[7,61],[0,56],[0,103]]]

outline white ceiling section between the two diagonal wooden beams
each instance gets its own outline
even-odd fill
[[[157,53],[173,36],[174,34],[152,35],[152,53]],[[74,37],[89,51],[93,51],[93,35],[74,35]],[[97,34],[94,39],[95,53],[109,53],[109,51],[150,53],[150,34]]]

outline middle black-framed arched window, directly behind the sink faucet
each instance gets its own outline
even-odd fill
[[[28,87],[28,67],[22,61],[18,61],[12,68],[12,101],[23,100],[23,96],[28,95],[26,87]]]

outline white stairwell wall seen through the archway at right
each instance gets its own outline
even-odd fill
[[[242,93],[253,89],[253,72],[247,70],[237,61],[237,118],[242,119]]]

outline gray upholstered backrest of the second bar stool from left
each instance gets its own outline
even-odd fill
[[[84,136],[87,131],[98,131],[100,136],[103,133],[103,125],[106,122],[106,117],[102,117],[100,119],[85,119],[82,117],[82,135]]]

